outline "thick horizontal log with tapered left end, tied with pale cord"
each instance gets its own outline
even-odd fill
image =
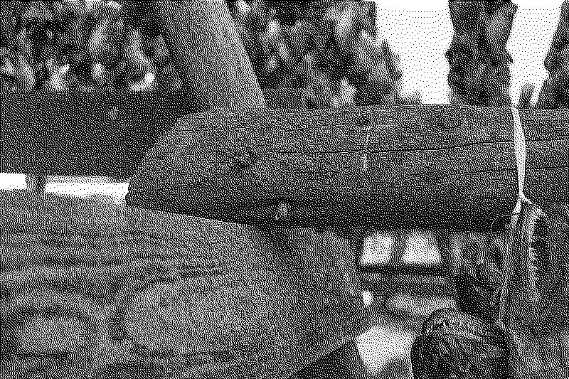
[[[526,196],[568,201],[569,110],[520,118]],[[507,108],[215,110],[156,142],[127,203],[254,225],[488,230],[516,202],[513,141]]]

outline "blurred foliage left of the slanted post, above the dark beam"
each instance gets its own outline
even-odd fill
[[[8,5],[13,12],[8,26],[2,28],[3,89],[179,87],[176,78],[172,80],[164,38],[144,36],[124,23],[115,1],[11,1]]]

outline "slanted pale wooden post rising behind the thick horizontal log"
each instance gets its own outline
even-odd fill
[[[185,90],[197,111],[262,108],[265,98],[237,28],[223,1],[154,1]]]

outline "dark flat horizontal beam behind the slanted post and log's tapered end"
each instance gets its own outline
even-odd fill
[[[265,90],[268,107],[302,107],[300,92]],[[156,139],[196,112],[189,92],[0,93],[0,171],[134,174]]]

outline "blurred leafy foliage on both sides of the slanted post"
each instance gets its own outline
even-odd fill
[[[356,0],[227,0],[264,88],[300,88],[309,107],[413,104],[398,57]],[[125,22],[124,1],[11,1],[2,11],[3,90],[178,90],[164,38]],[[145,21],[143,21],[145,22]]]

